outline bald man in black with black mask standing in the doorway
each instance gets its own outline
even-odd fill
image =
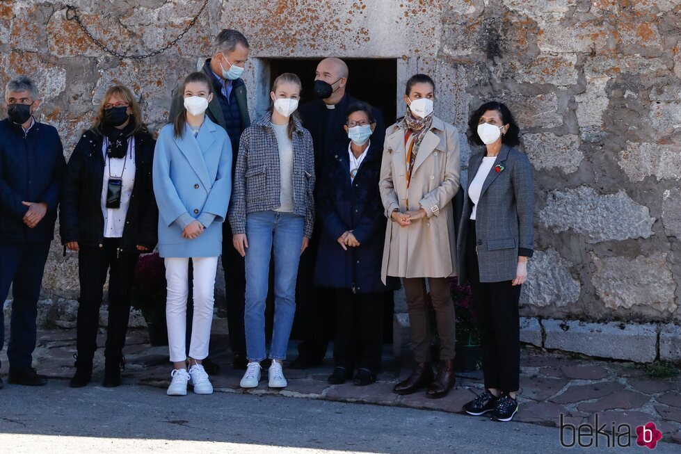
[[[322,175],[325,162],[334,149],[348,144],[348,134],[343,128],[346,122],[346,111],[351,104],[358,102],[346,92],[348,82],[348,65],[339,58],[325,58],[317,65],[314,76],[314,95],[317,99],[301,106],[303,126],[312,134],[314,143],[314,168],[316,175]],[[385,122],[383,114],[371,107],[371,114],[376,119],[376,129],[371,136],[372,144],[383,149],[385,139]],[[333,156],[331,156],[333,157]],[[325,184],[317,180],[317,190]],[[317,225],[320,225],[319,222]],[[303,341],[298,345],[297,359],[291,362],[291,368],[309,368],[320,364],[328,348],[328,328],[331,323],[333,305],[326,304],[333,300],[328,290],[319,289],[312,284],[314,262],[319,248],[319,229],[315,229],[310,241],[310,250],[301,257],[298,267],[298,310],[303,329]]]

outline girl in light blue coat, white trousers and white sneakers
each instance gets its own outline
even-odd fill
[[[232,188],[232,145],[227,133],[205,115],[213,98],[202,72],[184,81],[184,109],[166,124],[154,152],[154,195],[159,205],[159,254],[166,261],[168,346],[173,362],[168,396],[184,396],[191,381],[196,394],[213,387],[201,365],[208,356],[215,273],[222,250],[222,222]],[[194,315],[186,357],[188,266],[193,264]]]

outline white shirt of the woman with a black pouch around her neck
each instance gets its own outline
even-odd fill
[[[104,178],[102,179],[102,215],[104,215],[104,238],[120,238],[123,236],[125,227],[125,216],[130,206],[130,196],[132,188],[135,186],[135,138],[128,140],[128,150],[126,158],[109,158],[106,156],[106,147],[109,139],[104,138],[102,143],[102,154],[104,155]],[[120,191],[120,208],[106,208],[106,193],[109,188],[109,168],[111,167],[111,178],[122,178]]]

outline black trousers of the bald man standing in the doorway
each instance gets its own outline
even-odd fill
[[[325,304],[335,300],[335,290],[312,284],[318,251],[319,234],[312,234],[310,248],[303,253],[298,264],[296,283],[296,318],[303,339],[298,344],[298,354],[312,362],[321,362],[326,356],[329,333],[333,332],[335,325],[333,305]]]

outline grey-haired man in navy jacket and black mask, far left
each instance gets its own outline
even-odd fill
[[[8,118],[0,121],[0,301],[11,285],[8,381],[40,386],[47,380],[31,367],[35,317],[66,162],[56,129],[33,118],[40,99],[31,79],[11,80],[5,102]],[[4,326],[0,311],[0,349]]]

